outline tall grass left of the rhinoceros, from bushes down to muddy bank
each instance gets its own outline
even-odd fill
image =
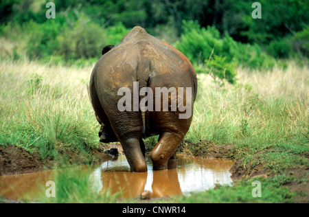
[[[75,152],[87,161],[98,133],[87,95],[91,69],[1,60],[0,144],[38,150],[42,159]]]

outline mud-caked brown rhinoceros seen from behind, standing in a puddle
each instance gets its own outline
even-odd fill
[[[133,172],[146,172],[144,143],[141,137],[159,135],[159,141],[151,152],[154,170],[168,169],[168,160],[174,154],[192,122],[193,105],[196,98],[197,80],[191,62],[177,49],[150,36],[142,27],[134,27],[113,47],[104,48],[104,54],[91,73],[89,93],[98,122],[101,124],[100,141],[120,141],[126,159]],[[133,82],[139,90],[150,87],[155,105],[155,87],[191,87],[191,116],[180,119],[179,111],[119,111],[117,95],[121,87],[133,93]],[[144,96],[139,96],[141,100]],[[178,101],[179,98],[176,98]],[[169,100],[170,101],[170,100]],[[183,97],[183,104],[187,102]],[[133,107],[133,98],[132,103]],[[169,102],[169,108],[171,106]],[[178,104],[177,104],[178,105]]]

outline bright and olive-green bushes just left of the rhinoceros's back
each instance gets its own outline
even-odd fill
[[[130,31],[122,23],[103,28],[84,16],[72,23],[73,27],[69,27],[51,19],[42,24],[27,24],[26,28],[32,30],[27,46],[30,59],[56,64],[80,60],[78,65],[85,65],[89,59],[100,58],[105,45],[117,45]]]

